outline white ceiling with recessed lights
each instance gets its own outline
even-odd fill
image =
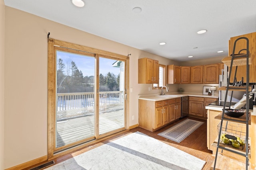
[[[6,6],[176,61],[227,56],[230,37],[256,31],[256,0],[84,1],[78,8],[70,0],[4,0]],[[142,12],[134,13],[134,7]],[[208,31],[197,34],[201,29]]]

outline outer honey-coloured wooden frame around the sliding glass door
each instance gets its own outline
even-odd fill
[[[112,59],[116,59],[116,60],[125,60],[126,61],[126,89],[129,89],[129,57],[124,56],[124,55],[119,55],[116,53],[111,53],[108,51],[103,51],[103,50],[99,50],[99,49],[94,49],[91,47],[86,47],[83,45],[77,45],[77,44],[73,44],[73,43],[68,43],[65,41],[60,41],[60,40],[56,40],[56,39],[52,39],[52,38],[48,38],[48,160],[52,160],[54,158],[57,158],[58,156],[67,154],[69,152],[72,152],[74,150],[86,147],[88,145],[91,145],[92,143],[96,143],[100,140],[104,140],[105,136],[102,136],[100,139],[96,139],[94,141],[88,142],[88,143],[84,143],[81,145],[78,145],[76,147],[72,147],[70,149],[66,149],[63,151],[60,151],[58,153],[54,153],[54,141],[55,141],[55,123],[54,121],[56,121],[55,119],[55,112],[56,112],[56,58],[54,55],[54,46],[57,47],[66,47],[69,49],[74,49],[77,51],[83,51],[83,52],[88,52],[88,53],[94,53],[96,54],[96,57],[99,57],[100,55],[108,57],[108,58],[112,58]],[[98,79],[98,73],[96,72],[96,76]],[[96,80],[99,81],[99,80]],[[97,87],[95,88],[95,90],[97,90]],[[126,102],[124,102],[125,106],[126,106],[126,113],[125,113],[125,129],[129,129],[129,93],[126,92],[127,94],[127,100],[125,100]],[[96,95],[98,95],[96,93]],[[97,97],[96,97],[97,98]],[[98,101],[96,101],[96,105]],[[96,114],[97,115],[97,114]],[[108,134],[110,135],[110,134]]]

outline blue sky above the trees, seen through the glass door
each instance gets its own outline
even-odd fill
[[[94,57],[88,57],[84,55],[77,55],[77,54],[58,51],[57,61],[59,58],[61,58],[63,60],[63,63],[65,64],[65,69],[64,69],[65,74],[66,74],[67,66],[71,64],[71,61],[74,61],[76,63],[78,70],[82,71],[83,76],[94,75],[94,69],[95,69]],[[116,68],[112,66],[112,64],[115,61],[116,60],[100,58],[100,73],[105,76],[108,72],[111,72],[117,76],[120,72],[120,68]]]

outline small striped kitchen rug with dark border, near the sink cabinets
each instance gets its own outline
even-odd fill
[[[191,119],[186,119],[179,124],[170,127],[166,131],[158,133],[158,135],[170,139],[172,141],[180,143],[188,135],[194,132],[198,127],[200,127],[204,122],[196,121]]]

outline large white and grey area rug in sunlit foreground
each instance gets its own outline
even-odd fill
[[[136,132],[47,170],[202,170],[205,163],[182,150]]]

